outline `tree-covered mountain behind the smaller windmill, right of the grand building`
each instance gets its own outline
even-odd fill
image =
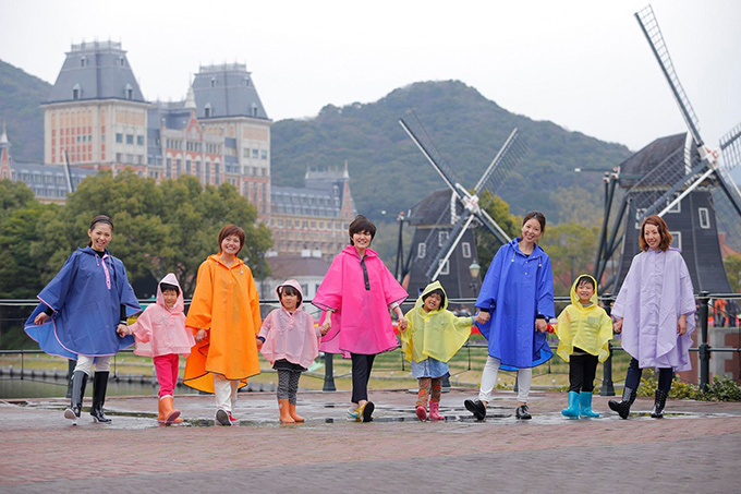
[[[610,144],[548,121],[511,113],[459,81],[415,83],[372,104],[326,106],[316,118],[272,125],[272,182],[301,186],[306,167],[343,166],[357,210],[393,218],[434,190],[445,188],[398,120],[413,109],[437,150],[462,184],[473,188],[513,128],[527,153],[498,194],[514,214],[539,209],[555,222],[602,219],[602,173],[631,155]]]

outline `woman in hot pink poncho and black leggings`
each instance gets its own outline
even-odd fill
[[[349,233],[350,245],[332,261],[312,303],[325,311],[321,333],[326,336],[319,350],[352,359],[352,407],[348,413],[357,422],[369,422],[375,408],[368,401],[373,360],[399,347],[389,309],[399,317],[399,328],[406,329],[399,306],[406,291],[368,249],[376,226],[360,215],[350,224]]]

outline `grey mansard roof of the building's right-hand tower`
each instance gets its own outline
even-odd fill
[[[247,67],[202,65],[193,80],[198,119],[250,117],[267,120]]]

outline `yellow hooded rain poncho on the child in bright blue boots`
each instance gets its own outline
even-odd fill
[[[576,282],[583,276],[592,279],[595,286],[590,299],[591,305],[584,306],[576,294]],[[597,356],[600,362],[609,356],[608,342],[612,338],[612,321],[605,310],[597,304],[597,282],[590,275],[580,275],[571,286],[571,304],[558,316],[558,356],[569,361],[574,347]]]

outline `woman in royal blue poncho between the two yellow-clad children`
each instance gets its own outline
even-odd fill
[[[499,369],[518,371],[515,417],[532,418],[527,395],[533,368],[554,356],[546,341],[547,321],[556,313],[554,276],[548,254],[537,244],[545,230],[543,213],[527,213],[522,221],[522,237],[499,249],[484,277],[476,306],[484,320],[478,327],[489,342],[489,356],[478,399],[464,402],[477,420],[486,418]]]

